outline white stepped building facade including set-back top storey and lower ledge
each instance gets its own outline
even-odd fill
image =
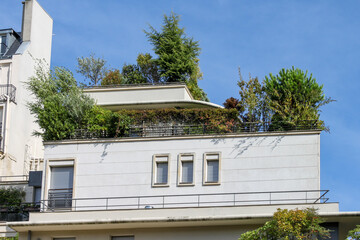
[[[86,92],[114,111],[220,107],[188,98],[184,85]],[[20,239],[230,240],[277,208],[310,207],[343,239],[359,221],[320,189],[319,130],[163,133],[45,142],[42,210],[9,226]]]

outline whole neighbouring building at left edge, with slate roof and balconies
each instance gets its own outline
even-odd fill
[[[33,136],[38,126],[26,106],[32,96],[24,83],[34,75],[37,59],[50,64],[52,26],[39,3],[26,0],[21,31],[0,29],[0,187],[23,189],[26,202],[40,200],[41,183],[29,186],[29,174],[42,169],[44,149]],[[22,218],[4,211],[1,220]],[[6,235],[0,228],[0,236]]]

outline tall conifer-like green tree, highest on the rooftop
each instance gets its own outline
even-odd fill
[[[186,82],[195,99],[208,101],[197,82],[202,78],[199,42],[185,34],[184,28],[179,27],[179,21],[180,17],[171,13],[164,16],[161,31],[152,26],[150,31],[145,31],[158,56],[154,62],[164,82]]]

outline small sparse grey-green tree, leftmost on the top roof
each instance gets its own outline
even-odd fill
[[[76,71],[90,80],[89,85],[97,86],[106,75],[106,61],[102,58],[96,58],[93,53],[90,57],[81,57],[77,61]]]

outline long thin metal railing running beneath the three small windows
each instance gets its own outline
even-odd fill
[[[148,208],[233,207],[281,204],[321,204],[329,190],[213,193],[107,198],[74,198],[57,195],[41,201],[41,211],[104,211]],[[50,196],[50,195],[49,195]]]

